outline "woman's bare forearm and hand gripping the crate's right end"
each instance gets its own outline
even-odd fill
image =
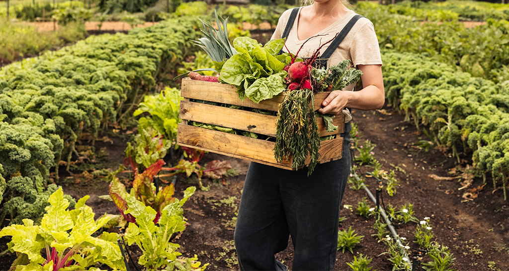
[[[359,91],[333,91],[322,102],[322,114],[340,114],[345,107],[374,110],[381,109],[385,102],[381,65],[358,65],[362,71],[362,89]]]

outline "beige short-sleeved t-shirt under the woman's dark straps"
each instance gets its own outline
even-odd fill
[[[286,47],[293,54],[295,54],[305,42],[305,40],[299,40],[297,37],[298,18],[301,10],[302,8],[299,9],[297,18],[295,19],[292,29],[290,30],[286,40]],[[274,31],[274,34],[272,34],[271,39],[281,38],[283,32],[285,31],[291,12],[292,10],[287,10],[281,14],[281,17],[279,17],[279,21],[277,22],[276,30]],[[331,40],[334,35],[336,35],[336,33],[340,33],[354,15],[356,15],[356,13],[353,10],[350,10],[342,18],[329,25],[328,28],[317,33],[317,35],[326,36],[318,36],[307,41],[304,44],[304,47],[300,49],[298,57],[310,57],[313,52],[318,47],[320,47],[321,44]],[[320,49],[321,54],[325,52],[329,44],[326,44]],[[283,48],[283,50],[287,51],[286,48]],[[369,19],[361,17],[355,23],[345,39],[332,53],[332,56],[327,62],[327,67],[330,67],[331,65],[337,65],[346,59],[350,60],[354,67],[357,67],[357,65],[382,65],[382,58],[380,57],[380,47],[378,45],[377,35],[375,34],[373,23]],[[352,91],[354,87],[354,84],[352,84],[343,90]],[[345,122],[349,122],[352,119],[350,112],[346,109],[343,112],[346,115]]]

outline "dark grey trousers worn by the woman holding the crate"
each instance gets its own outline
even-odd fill
[[[307,168],[278,169],[251,162],[240,201],[235,247],[241,270],[285,270],[274,254],[294,246],[293,270],[332,270],[340,205],[350,174],[350,124],[343,158]]]

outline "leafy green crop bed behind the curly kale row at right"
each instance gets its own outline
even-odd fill
[[[495,83],[509,80],[508,21],[488,19],[484,25],[465,28],[457,20],[422,22],[390,9],[363,2],[356,9],[375,25],[381,48],[425,53]]]

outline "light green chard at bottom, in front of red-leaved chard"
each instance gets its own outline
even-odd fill
[[[175,267],[185,265],[186,259],[177,259],[181,253],[177,252],[178,244],[169,242],[173,234],[185,229],[184,209],[182,205],[194,194],[195,187],[191,186],[184,192],[182,200],[175,200],[168,204],[161,212],[161,219],[158,226],[154,224],[157,212],[137,201],[132,196],[127,196],[129,208],[127,213],[136,218],[136,224],[129,223],[125,238],[128,245],[136,244],[142,251],[138,264],[145,266],[147,270],[174,270]],[[204,270],[208,264],[200,266],[200,262],[193,262],[191,267],[197,270]]]

